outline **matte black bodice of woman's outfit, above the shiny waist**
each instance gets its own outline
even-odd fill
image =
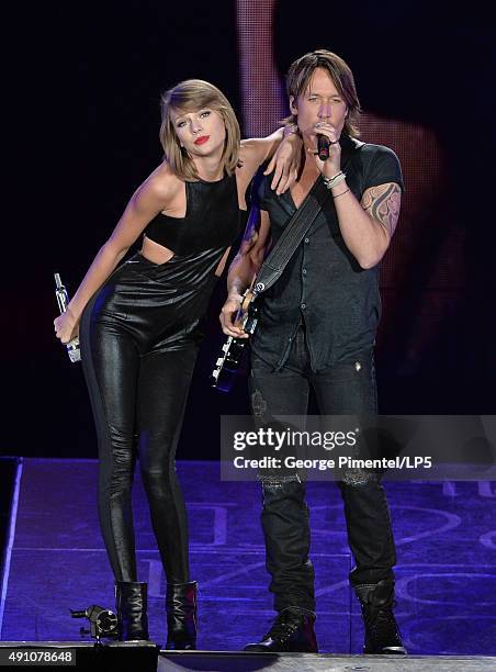
[[[229,247],[244,219],[238,205],[236,175],[225,175],[216,182],[185,182],[185,216],[170,217],[159,212],[145,235],[179,256]]]

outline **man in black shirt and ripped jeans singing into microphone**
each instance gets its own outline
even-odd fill
[[[290,192],[275,194],[270,177],[258,189],[259,208],[228,273],[223,331],[238,341],[248,337],[239,309],[247,288],[255,287],[248,296],[262,296],[251,337],[250,392],[261,424],[278,415],[305,415],[311,387],[323,415],[373,415],[379,262],[397,223],[402,170],[391,149],[356,139],[359,100],[352,72],[339,56],[325,49],[304,55],[290,67],[286,85],[291,116],[285,123],[297,125],[304,144],[301,170]],[[278,245],[282,239],[290,240],[285,256]],[[260,283],[269,244],[266,261],[273,258],[270,267],[279,270]],[[267,568],[279,614],[262,640],[246,650],[317,651],[305,483],[297,474],[261,481]],[[350,470],[339,488],[356,561],[350,582],[365,624],[364,652],[405,654],[393,615],[396,555],[380,475]]]

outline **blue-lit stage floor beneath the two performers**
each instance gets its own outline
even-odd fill
[[[180,462],[178,471],[190,515],[192,578],[200,585],[199,646],[239,651],[263,635],[273,617],[259,486],[221,482],[216,462]],[[2,583],[2,640],[72,641],[82,623],[70,618],[69,608],[91,604],[113,608],[95,484],[94,460],[24,459],[20,464]],[[417,481],[386,483],[386,490],[398,553],[396,615],[408,651],[495,656],[496,485]],[[164,646],[165,578],[138,477],[134,497],[139,579],[149,585],[150,638]],[[308,503],[319,650],[357,654],[363,631],[359,605],[348,585],[352,562],[340,495],[332,483],[309,483]],[[177,664],[174,660],[170,664]],[[198,660],[196,654],[192,660]],[[352,670],[364,661],[322,660],[341,665],[322,668],[329,670],[345,669],[345,664]],[[383,665],[410,664],[410,660]],[[272,661],[271,669],[288,669],[273,664],[286,664],[283,661]],[[478,663],[474,659],[470,664]]]

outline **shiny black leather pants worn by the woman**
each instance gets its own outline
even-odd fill
[[[136,271],[153,266],[134,259],[91,300],[80,328],[99,440],[100,525],[115,580],[137,581],[131,495],[139,457],[167,581],[184,583],[190,581],[188,524],[174,453],[198,338],[187,327],[173,338],[170,302],[164,303],[158,282]],[[160,323],[169,325],[161,340]]]

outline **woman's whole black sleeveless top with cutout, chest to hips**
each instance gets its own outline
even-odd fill
[[[200,321],[218,279],[215,271],[246,225],[236,176],[187,182],[184,217],[157,215],[145,233],[173,251],[164,264],[137,253],[120,266],[88,303],[91,320],[117,322],[142,354],[172,350],[201,337]]]

